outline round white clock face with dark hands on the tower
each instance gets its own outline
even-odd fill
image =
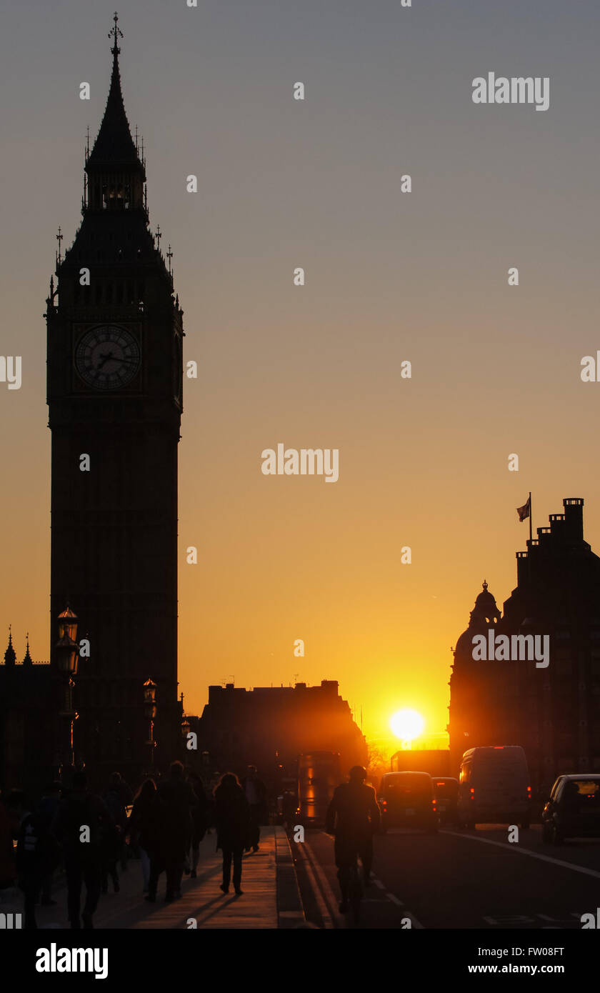
[[[81,379],[95,389],[119,389],[131,382],[141,364],[133,335],[117,325],[98,325],[86,331],[75,350]]]

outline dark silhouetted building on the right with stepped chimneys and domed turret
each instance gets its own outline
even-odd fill
[[[533,794],[559,773],[600,772],[600,558],[583,539],[583,500],[538,527],[517,553],[518,585],[504,614],[484,583],[456,643],[450,678],[450,753],[522,745]],[[549,638],[549,663],[473,658],[473,638]],[[541,645],[541,641],[539,644]]]

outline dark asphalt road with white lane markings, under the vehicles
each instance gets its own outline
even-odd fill
[[[308,829],[294,844],[308,919],[347,927],[338,913],[333,840]],[[375,881],[361,926],[432,928],[581,928],[581,915],[600,905],[600,839],[560,846],[541,842],[539,825],[508,842],[505,825],[424,834],[398,828],[375,836]]]

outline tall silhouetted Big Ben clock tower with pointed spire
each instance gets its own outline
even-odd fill
[[[183,311],[150,232],[146,172],[121,93],[115,15],[104,117],[85,159],[82,221],[48,300],[52,646],[69,600],[88,638],[75,757],[135,779],[154,737],[177,748],[177,450]],[[160,240],[160,238],[158,239]]]

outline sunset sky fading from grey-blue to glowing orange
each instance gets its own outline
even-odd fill
[[[58,225],[66,248],[80,220],[113,9],[3,5],[0,353],[22,355],[23,381],[0,382],[0,636],[12,624],[18,657],[27,631],[49,657],[42,315]],[[439,734],[483,580],[501,607],[516,586],[527,493],[534,528],[583,497],[600,546],[600,383],[580,377],[600,349],[600,7],[121,0],[119,18],[199,367],[179,452],[186,709],[210,684],[329,678],[368,736],[404,707]],[[473,103],[489,71],[549,77],[549,108]],[[264,476],[278,443],[338,449],[338,482]]]

